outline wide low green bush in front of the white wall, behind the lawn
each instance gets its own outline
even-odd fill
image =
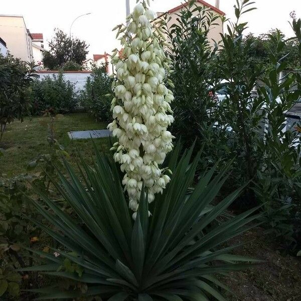
[[[31,88],[33,114],[42,114],[44,111],[68,113],[77,105],[74,84],[65,80],[62,73],[35,80]]]

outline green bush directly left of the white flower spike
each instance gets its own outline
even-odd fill
[[[80,92],[81,105],[101,121],[108,122],[112,119],[112,97],[106,96],[111,93],[111,85],[112,79],[106,72],[106,66],[93,67],[91,77],[88,77],[84,89]]]

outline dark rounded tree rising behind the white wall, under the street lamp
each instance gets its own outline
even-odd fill
[[[62,68],[68,62],[82,65],[88,54],[85,41],[69,37],[60,29],[54,30],[54,37],[49,42],[49,51],[44,52],[43,63],[46,68]]]

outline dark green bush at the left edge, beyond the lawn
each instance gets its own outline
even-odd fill
[[[0,139],[6,125],[29,111],[29,87],[34,75],[33,64],[28,64],[11,55],[0,54]]]

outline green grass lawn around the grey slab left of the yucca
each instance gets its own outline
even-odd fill
[[[7,126],[0,148],[4,149],[0,157],[0,175],[8,177],[28,173],[28,163],[35,160],[41,154],[49,154],[48,123],[50,117],[26,118],[24,122],[15,121]],[[93,152],[90,139],[71,140],[69,131],[105,129],[106,124],[97,122],[87,113],[72,113],[60,115],[54,121],[55,138],[65,147],[70,155],[70,162],[74,163],[78,157],[77,148],[84,157],[90,156]],[[94,139],[97,146],[108,149],[108,139]],[[39,169],[39,168],[38,168]]]

